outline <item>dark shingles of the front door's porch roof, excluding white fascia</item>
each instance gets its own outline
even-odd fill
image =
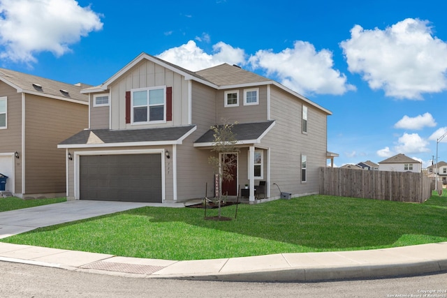
[[[261,137],[265,131],[274,123],[274,121],[265,122],[255,122],[255,123],[244,123],[244,124],[233,124],[232,132],[237,141],[244,140],[257,140]],[[214,142],[214,131],[210,129],[201,137],[199,137],[195,144],[198,143],[210,143]]]

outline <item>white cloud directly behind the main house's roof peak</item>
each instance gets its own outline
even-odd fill
[[[219,42],[213,45],[214,54],[205,53],[193,40],[172,47],[157,55],[160,59],[176,64],[191,71],[202,70],[219,64],[245,64],[245,53],[240,48],[234,48],[226,43]]]

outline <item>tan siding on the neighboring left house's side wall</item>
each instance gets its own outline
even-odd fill
[[[88,106],[27,95],[25,100],[24,193],[65,193],[66,152],[57,149],[88,126]]]

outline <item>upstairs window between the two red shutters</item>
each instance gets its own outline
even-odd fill
[[[166,87],[133,89],[131,94],[134,124],[166,121]]]

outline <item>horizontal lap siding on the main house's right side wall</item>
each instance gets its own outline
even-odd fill
[[[272,186],[293,195],[318,193],[318,168],[326,163],[327,114],[277,87],[271,87],[271,119],[276,121],[262,145],[270,147],[270,195],[279,196]],[[302,105],[307,106],[307,133],[302,133]],[[278,140],[281,140],[280,142]],[[301,156],[307,156],[307,181],[301,181]],[[295,165],[295,166],[291,166]]]

